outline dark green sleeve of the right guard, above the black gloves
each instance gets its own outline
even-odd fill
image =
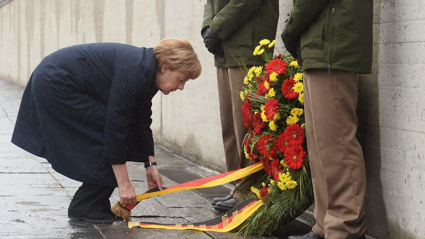
[[[286,21],[286,29],[300,36],[328,3],[329,0],[297,0]]]

